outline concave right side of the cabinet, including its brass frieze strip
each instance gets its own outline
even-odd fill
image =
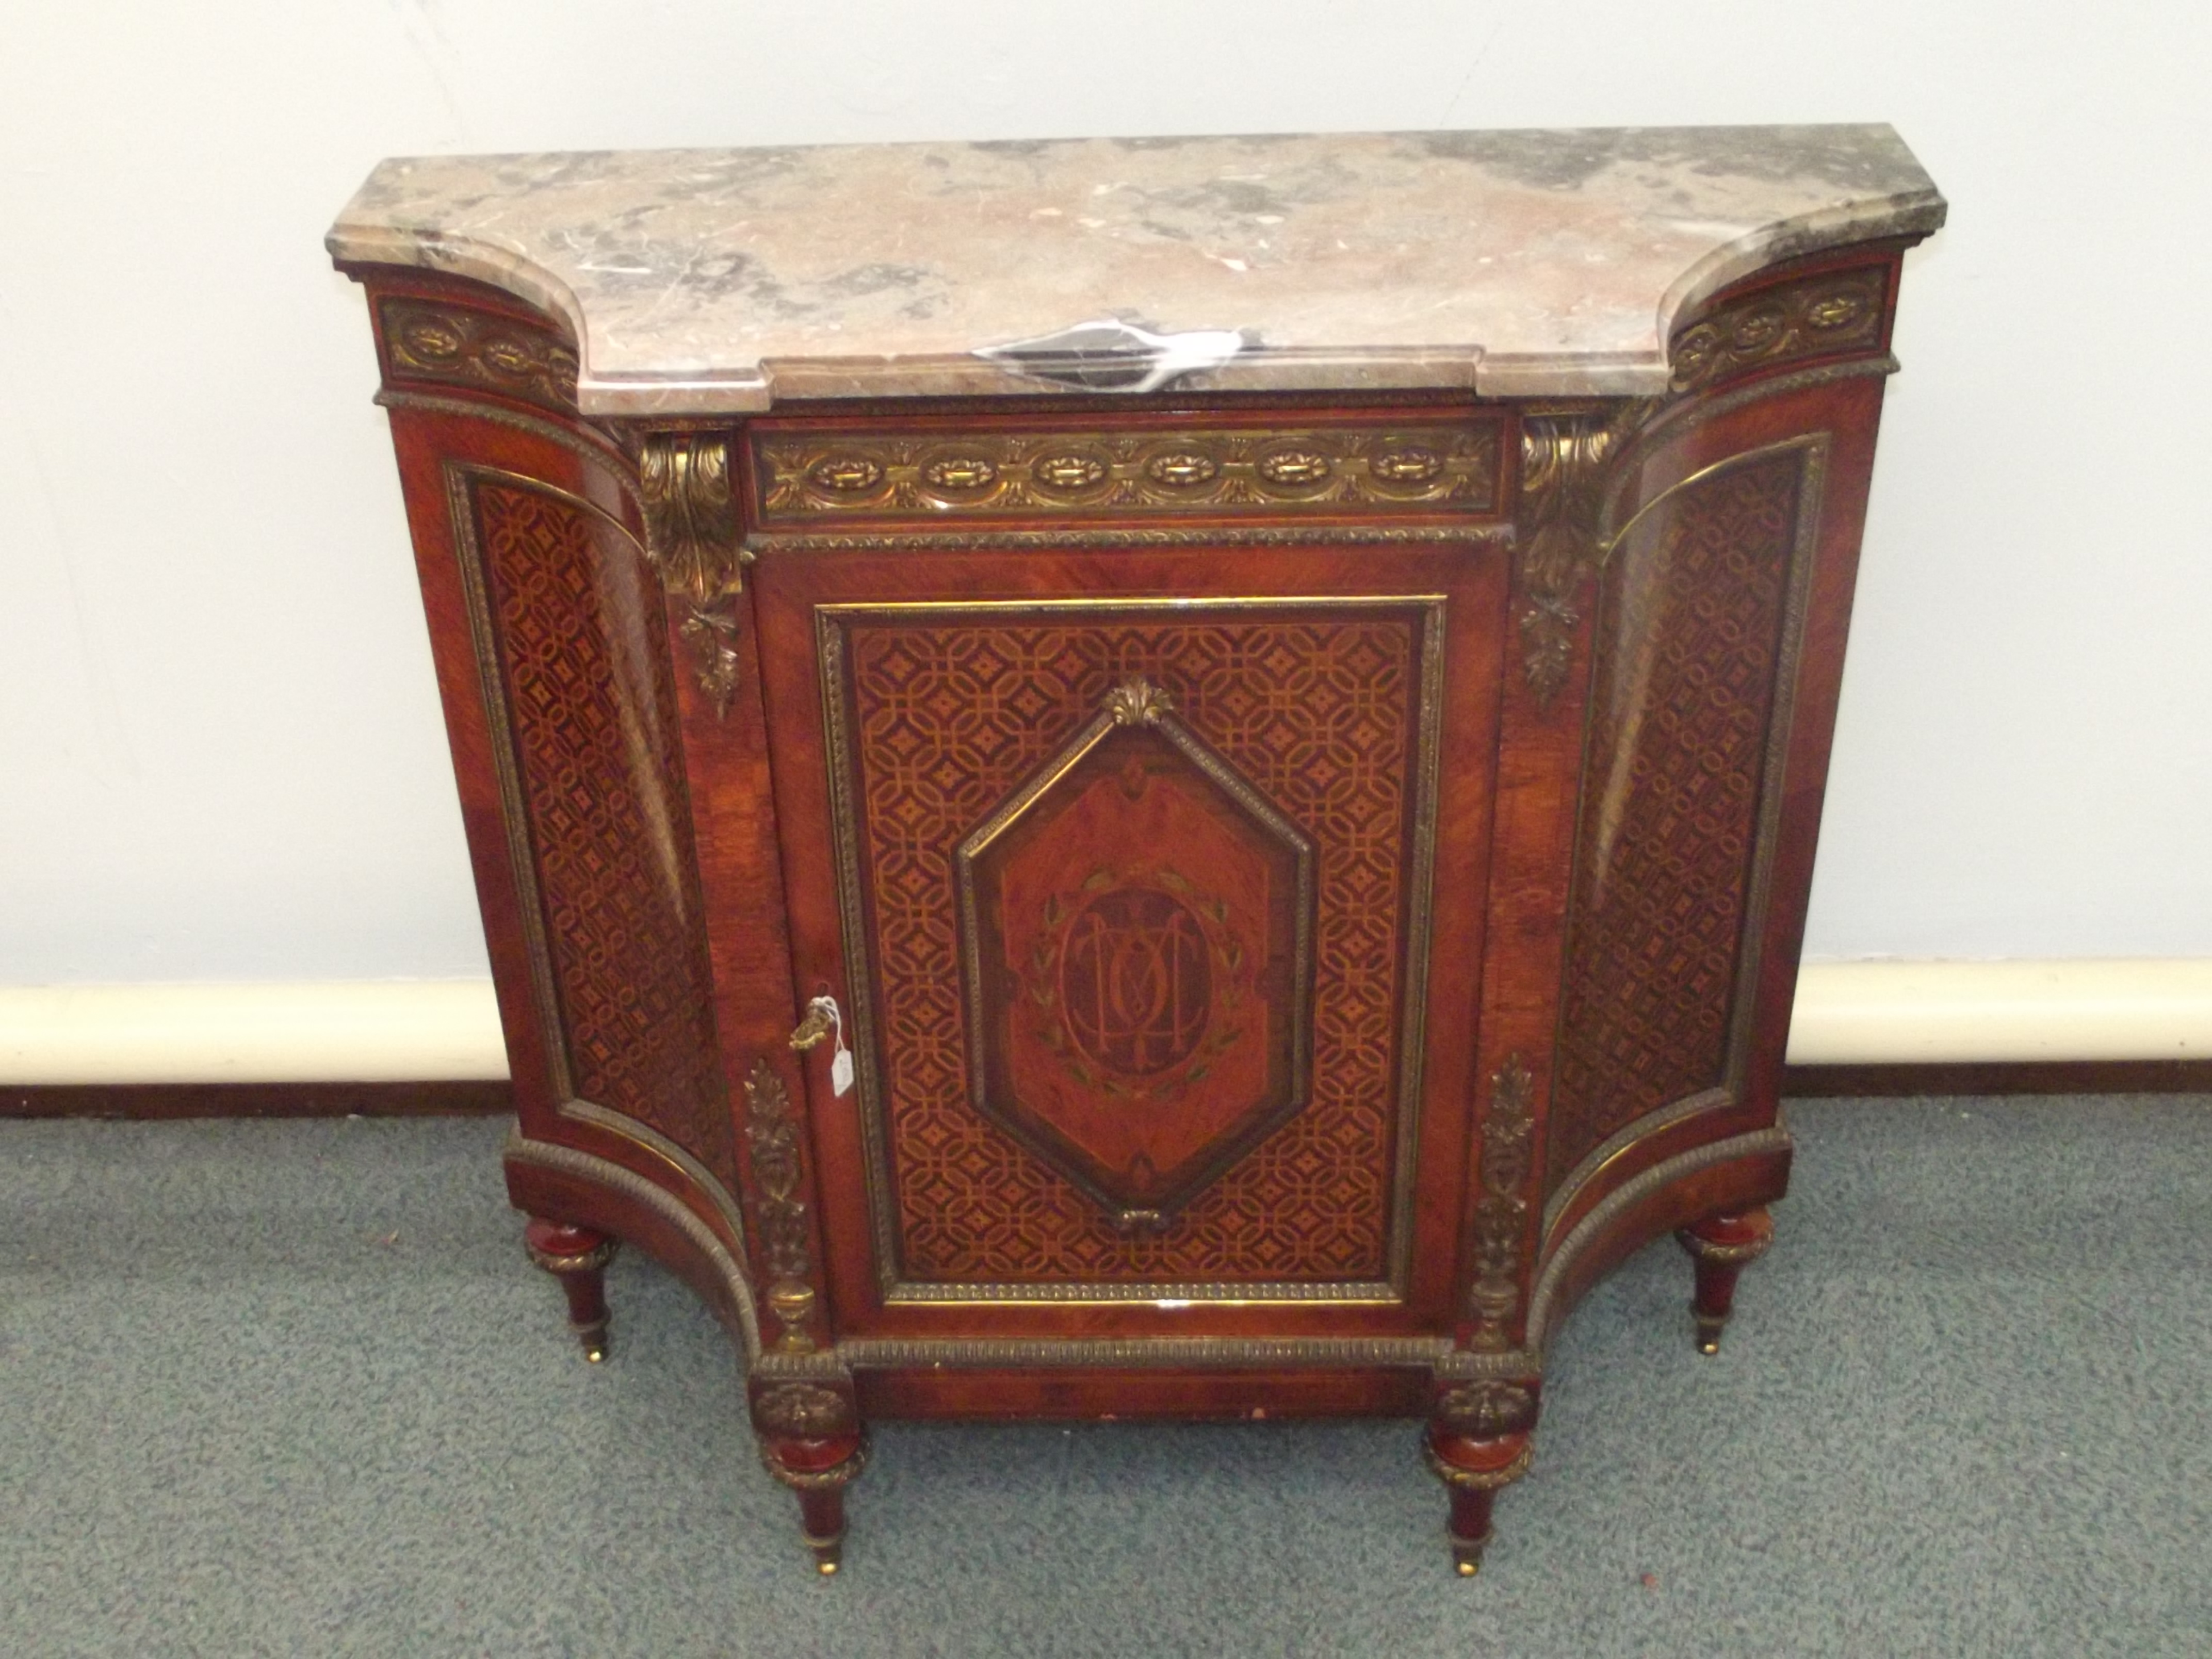
[[[1697,361],[1615,471],[1548,1245],[1641,1170],[1774,1121],[1896,265],[1851,250],[1717,294],[1692,330],[1747,345]],[[1840,338],[1792,332],[1823,301]]]

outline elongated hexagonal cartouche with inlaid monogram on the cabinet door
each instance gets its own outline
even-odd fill
[[[956,854],[975,1108],[1157,1230],[1305,1104],[1312,843],[1135,679]]]

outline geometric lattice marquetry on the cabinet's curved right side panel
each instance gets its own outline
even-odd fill
[[[1723,1079],[1801,460],[1661,504],[1608,582],[1548,1179]]]

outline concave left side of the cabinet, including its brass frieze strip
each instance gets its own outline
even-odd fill
[[[376,272],[369,290],[524,1130],[646,1170],[734,1245],[734,1117],[635,469],[573,416],[573,354],[546,319],[451,279]]]

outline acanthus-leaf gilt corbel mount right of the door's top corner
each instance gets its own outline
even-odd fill
[[[1606,462],[1652,407],[1635,400],[1610,411],[1522,422],[1522,672],[1546,708],[1566,686],[1575,657],[1575,588],[1606,555],[1599,540]]]

